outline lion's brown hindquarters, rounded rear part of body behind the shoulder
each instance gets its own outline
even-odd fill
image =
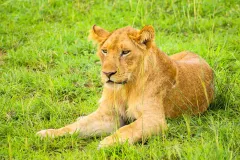
[[[208,63],[192,52],[170,56],[177,66],[176,84],[169,91],[167,117],[182,113],[204,112],[213,99],[213,71]]]

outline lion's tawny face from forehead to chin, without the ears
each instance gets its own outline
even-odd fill
[[[102,62],[101,77],[107,85],[124,85],[131,81],[142,56],[127,33],[113,33],[102,46],[98,56]]]

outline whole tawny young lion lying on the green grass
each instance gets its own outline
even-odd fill
[[[154,42],[152,26],[124,27],[113,32],[94,25],[90,38],[98,44],[102,97],[98,109],[41,137],[77,132],[105,137],[99,148],[133,144],[167,129],[166,118],[197,115],[213,100],[213,71],[200,56],[183,51],[168,56]],[[132,123],[126,124],[126,122]]]

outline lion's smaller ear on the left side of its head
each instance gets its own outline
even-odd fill
[[[108,31],[104,30],[101,27],[94,25],[92,27],[92,29],[90,30],[89,38],[98,43],[101,43],[104,40],[106,40],[109,35],[110,35],[110,33]]]

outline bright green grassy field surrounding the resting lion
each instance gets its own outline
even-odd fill
[[[97,150],[102,137],[36,137],[97,108],[93,24],[153,25],[167,54],[198,53],[215,71],[214,103],[168,119],[166,135],[145,144]],[[240,159],[239,44],[239,0],[0,0],[0,159]]]

